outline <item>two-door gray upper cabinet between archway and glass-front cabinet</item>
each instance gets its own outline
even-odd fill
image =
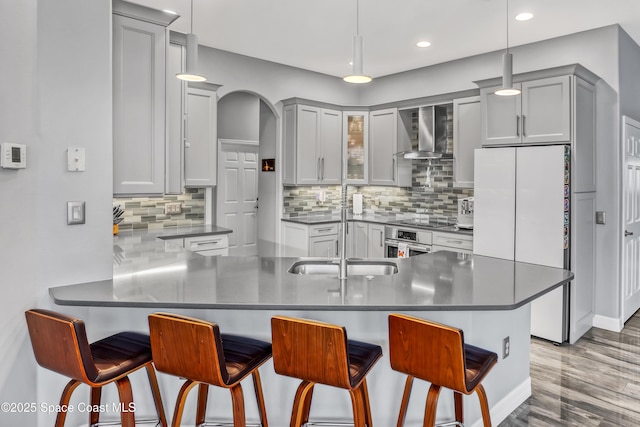
[[[342,177],[342,112],[284,107],[284,183],[335,185]]]

